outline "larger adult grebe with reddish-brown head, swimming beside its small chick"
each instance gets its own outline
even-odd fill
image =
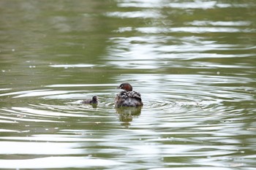
[[[142,107],[143,102],[140,93],[132,91],[132,85],[128,82],[122,83],[118,88],[123,89],[116,95],[115,107]]]

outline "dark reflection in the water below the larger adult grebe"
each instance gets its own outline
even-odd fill
[[[129,125],[134,117],[138,117],[141,112],[141,107],[119,107],[116,108],[119,120],[122,125]]]

